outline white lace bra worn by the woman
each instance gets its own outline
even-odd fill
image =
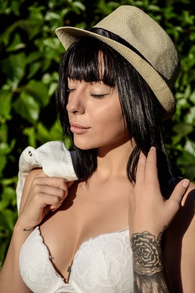
[[[100,234],[83,242],[75,254],[69,283],[56,272],[39,227],[20,251],[20,273],[34,293],[133,293],[129,229]]]

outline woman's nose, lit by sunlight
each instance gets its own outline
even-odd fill
[[[68,104],[66,105],[66,109],[70,113],[79,112],[81,114],[84,113],[85,107],[82,99],[82,93],[74,90],[74,92],[69,93]]]

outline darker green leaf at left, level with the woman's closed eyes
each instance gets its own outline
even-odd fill
[[[43,107],[48,105],[50,97],[48,89],[42,82],[31,80],[28,84],[23,86],[23,90],[30,94]]]

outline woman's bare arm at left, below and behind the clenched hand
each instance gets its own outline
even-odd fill
[[[36,174],[40,172],[39,169],[34,169],[28,174],[25,185],[22,192],[22,199],[20,204],[20,212],[23,209],[24,203],[28,196],[29,189],[31,187],[32,181]],[[7,255],[3,264],[2,269],[0,270],[0,289],[2,292],[7,293],[31,293],[31,290],[24,284],[19,268],[19,255],[22,244],[27,239],[30,231],[23,231],[20,229],[18,222],[14,227],[14,232],[12,239],[7,251]]]

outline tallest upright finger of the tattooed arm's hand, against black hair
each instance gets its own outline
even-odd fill
[[[156,147],[151,147],[148,152],[145,169],[145,181],[155,184],[158,182],[158,170],[156,164]]]

